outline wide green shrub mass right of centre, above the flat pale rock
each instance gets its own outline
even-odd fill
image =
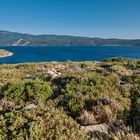
[[[130,105],[129,92],[121,87],[119,80],[116,74],[109,72],[86,71],[71,74],[62,89],[61,98],[58,98],[58,105],[63,106],[67,114],[76,120],[87,111],[99,122],[113,123],[120,118],[123,111],[129,110]],[[106,110],[106,114],[103,110]],[[109,113],[113,118],[110,121]]]

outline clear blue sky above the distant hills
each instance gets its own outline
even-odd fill
[[[140,38],[140,0],[0,0],[0,30]]]

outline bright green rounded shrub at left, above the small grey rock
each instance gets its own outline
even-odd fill
[[[24,106],[28,102],[45,101],[52,95],[51,87],[43,81],[27,83],[8,83],[2,88],[1,98],[14,101],[16,105]]]

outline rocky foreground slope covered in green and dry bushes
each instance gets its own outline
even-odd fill
[[[139,60],[1,65],[0,86],[1,139],[139,139]]]

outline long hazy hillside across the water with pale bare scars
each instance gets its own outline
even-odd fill
[[[140,45],[140,39],[103,39],[67,35],[31,35],[0,31],[0,46],[106,46],[106,45]]]

